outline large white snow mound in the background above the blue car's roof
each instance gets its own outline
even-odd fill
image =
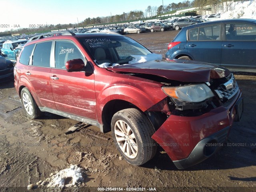
[[[241,2],[234,6],[234,10],[220,16],[220,19],[234,18],[256,19],[256,0]]]

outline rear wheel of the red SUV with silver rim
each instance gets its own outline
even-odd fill
[[[41,111],[38,108],[34,98],[32,97],[29,90],[25,87],[20,93],[21,103],[26,112],[26,115],[31,119],[36,119],[41,115]]]

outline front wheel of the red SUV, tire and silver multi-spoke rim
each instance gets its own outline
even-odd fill
[[[128,163],[139,166],[156,154],[156,142],[151,138],[154,128],[140,110],[129,108],[116,112],[111,130],[116,148]]]

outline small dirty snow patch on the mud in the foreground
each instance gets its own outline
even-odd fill
[[[50,175],[50,178],[47,178],[44,182],[41,183],[41,186],[47,187],[70,187],[75,186],[75,184],[83,182],[82,169],[76,165],[70,165],[70,168],[61,170],[54,175]],[[65,184],[67,178],[72,178],[72,184]]]

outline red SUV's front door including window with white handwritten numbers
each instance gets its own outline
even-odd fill
[[[69,40],[55,42],[55,67],[50,71],[50,83],[57,110],[96,120],[94,74],[67,72],[68,60],[86,59],[81,50]]]

